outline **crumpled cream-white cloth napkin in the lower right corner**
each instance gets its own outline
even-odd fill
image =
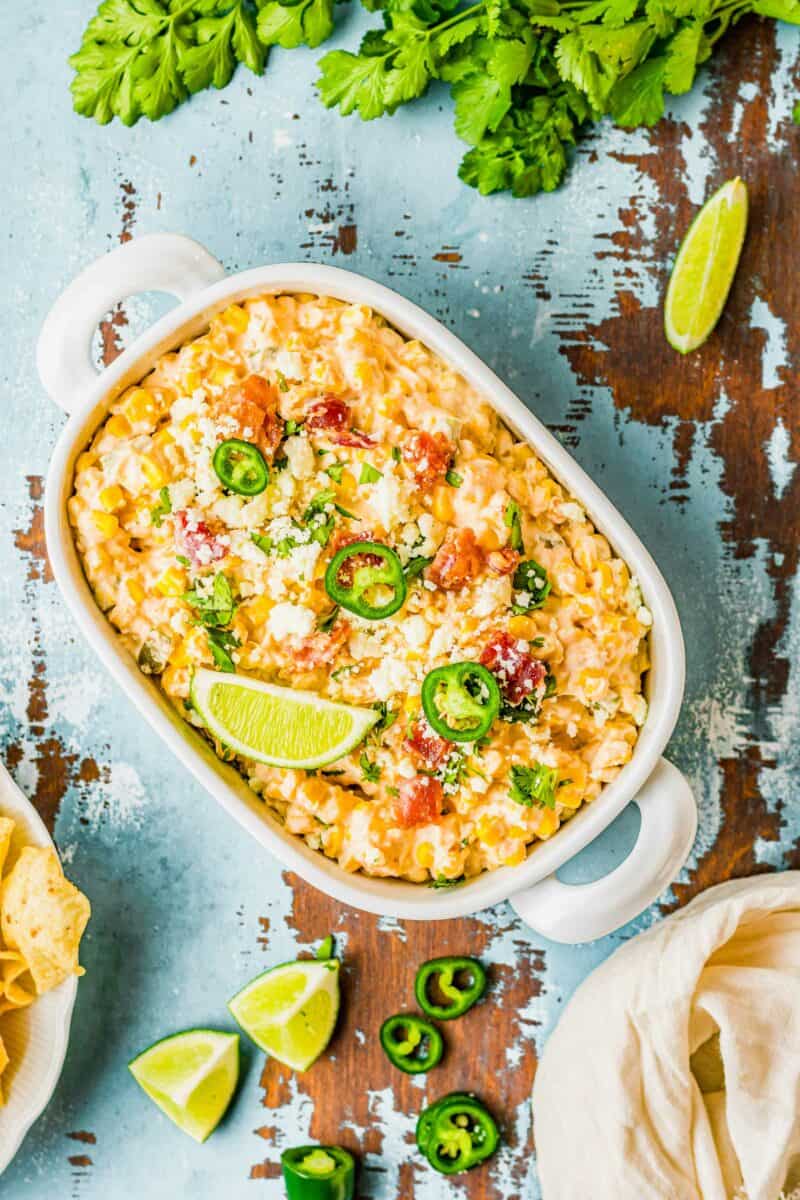
[[[534,1086],[545,1200],[777,1200],[800,1166],[800,871],[710,888],[576,991]]]

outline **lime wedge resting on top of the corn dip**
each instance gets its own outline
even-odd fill
[[[324,767],[349,754],[379,720],[373,708],[205,668],[194,673],[192,702],[221,742],[273,767]]]

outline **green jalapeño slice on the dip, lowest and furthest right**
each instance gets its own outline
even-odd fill
[[[498,682],[480,662],[449,662],[422,680],[422,708],[432,730],[449,742],[476,742],[500,712]]]

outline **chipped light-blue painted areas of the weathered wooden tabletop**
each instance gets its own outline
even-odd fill
[[[608,388],[577,379],[563,353],[587,326],[621,319],[621,292],[636,305],[657,304],[663,256],[649,250],[655,214],[663,220],[679,197],[699,203],[717,176],[723,150],[703,126],[714,115],[718,77],[704,77],[655,134],[602,126],[560,192],[531,202],[483,200],[456,178],[461,150],[444,92],[380,126],[345,121],[313,100],[314,55],[303,52],[273,54],[261,80],[240,71],[227,91],[205,94],[156,126],[101,130],[71,113],[64,61],[91,7],[70,0],[44,16],[14,5],[5,20],[2,745],[20,786],[40,808],[58,811],[59,847],[94,916],[61,1082],[0,1188],[8,1200],[272,1200],[283,1194],[278,1180],[248,1178],[251,1165],[270,1153],[254,1130],[269,1121],[279,1145],[302,1140],[311,1112],[299,1088],[288,1104],[265,1112],[260,1056],[249,1054],[230,1117],[199,1147],[142,1098],[126,1070],[137,1051],[167,1031],[228,1024],[224,1001],[240,983],[305,947],[277,864],[162,750],[79,638],[37,557],[40,502],[31,479],[46,474],[62,415],[37,382],[34,346],[59,290],[122,232],[180,230],[231,270],[287,259],[337,262],[396,287],[455,329],[567,440],[674,589],[688,682],[670,756],[700,803],[684,882],[702,877],[697,871],[730,820],[721,764],[745,755],[757,761],[758,804],[752,836],[742,842],[752,865],[781,866],[796,856],[796,596],[788,601],[794,619],[780,637],[789,664],[781,694],[756,702],[751,668],[759,622],[787,602],[776,589],[790,592],[796,581],[776,574],[776,556],[789,550],[780,539],[754,536],[742,551],[726,532],[735,498],[716,439],[733,403],[722,382],[712,410],[690,420],[688,449],[681,449],[682,425],[668,402],[663,419],[642,419],[619,407],[619,397],[615,406]],[[360,22],[356,13],[343,14],[342,44],[353,44]],[[732,86],[739,68],[730,68],[726,138],[735,149],[752,107],[766,106],[769,154],[786,161],[796,155],[788,116],[798,35],[764,26],[748,37],[756,65],[759,54],[769,56],[772,83],[764,94],[757,76],[741,70]],[[664,148],[680,167],[672,193],[658,190],[646,167]],[[620,248],[631,223],[640,234],[638,248],[636,240]],[[796,424],[793,433],[786,408],[792,310],[789,296],[770,299],[758,287],[756,281],[750,317],[763,331],[762,388],[775,395],[771,432],[759,452],[769,457],[777,504],[795,484]],[[158,304],[130,304],[131,328],[145,324]],[[606,839],[587,869],[597,872],[614,853]],[[541,990],[531,994],[523,1025],[537,1048],[579,980],[662,911],[654,907],[594,946],[536,940]],[[259,918],[270,923],[264,940]],[[486,956],[522,968],[527,935],[510,910],[483,913],[481,922]],[[386,946],[403,953],[391,923]],[[342,949],[347,954],[347,944]],[[521,1062],[519,1050],[507,1048],[510,1070]],[[369,1091],[368,1078],[363,1087]],[[347,1123],[348,1098],[341,1104]],[[393,1200],[413,1115],[398,1115],[384,1092],[371,1097],[371,1112],[383,1140],[380,1153],[367,1157],[365,1194]],[[527,1108],[513,1116],[524,1133]],[[70,1138],[80,1132],[94,1141]],[[513,1174],[501,1157],[494,1180],[507,1200],[539,1195],[533,1162]],[[463,1192],[459,1183],[420,1172],[414,1194],[439,1200]]]

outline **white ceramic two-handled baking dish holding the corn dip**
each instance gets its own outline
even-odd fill
[[[179,304],[116,361],[98,373],[90,347],[98,320],[134,293],[166,292]],[[521,866],[503,868],[452,889],[350,875],[283,830],[270,809],[230,766],[180,719],[157,686],[122,649],[92,599],[67,522],[73,466],[109,403],[137,383],[155,360],[201,332],[227,305],[259,293],[312,292],[366,304],[402,334],[419,338],[452,364],[527,439],[553,474],[585,505],[596,527],[638,576],[652,612],[649,715],[631,762],[602,794],[537,846]],[[350,271],[309,263],[260,266],[227,276],[197,242],[152,234],[127,242],[89,266],[50,311],[38,342],[42,383],[70,420],[47,481],[46,530],[55,577],[80,629],[163,742],[255,840],[287,868],[337,900],[399,918],[440,919],[511,899],[533,928],[560,941],[584,941],[616,928],[646,906],[675,876],[692,845],[696,808],[682,775],[661,754],[684,690],[684,643],[673,599],[630,526],[521,401],[451,332],[396,292]],[[642,824],[628,858],[597,882],[567,887],[554,872],[636,800]],[[155,803],[155,800],[154,800]]]

